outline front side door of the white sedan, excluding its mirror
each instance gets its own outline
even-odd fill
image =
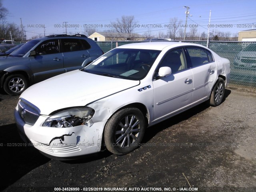
[[[153,80],[154,121],[171,116],[187,108],[192,100],[193,74],[187,68],[183,48],[171,50],[164,56],[160,67],[169,66],[172,74]]]

